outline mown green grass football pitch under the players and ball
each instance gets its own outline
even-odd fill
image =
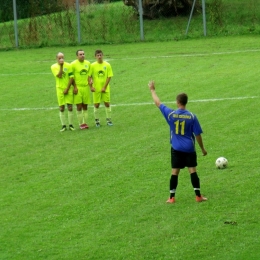
[[[96,129],[90,107],[89,130],[60,133],[50,66],[77,48],[0,52],[0,259],[260,259],[259,37],[83,46],[113,67],[114,126]],[[150,79],[169,106],[189,95],[208,151],[197,150],[205,203],[187,170],[165,203],[169,132]]]

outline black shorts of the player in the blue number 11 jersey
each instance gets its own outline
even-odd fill
[[[171,147],[171,163],[174,169],[197,166],[197,154],[176,151]]]

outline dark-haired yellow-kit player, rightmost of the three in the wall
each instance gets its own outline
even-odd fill
[[[107,125],[112,126],[109,82],[111,77],[113,77],[113,71],[111,65],[103,60],[103,52],[101,50],[95,51],[95,58],[96,61],[91,64],[89,82],[90,89],[93,92],[96,127],[100,127],[99,106],[101,101],[105,105]]]

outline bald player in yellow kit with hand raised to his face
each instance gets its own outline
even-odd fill
[[[70,88],[70,78],[73,78],[71,65],[64,61],[64,54],[62,52],[56,55],[57,63],[51,66],[51,71],[56,81],[57,99],[60,108],[61,132],[64,132],[66,127],[65,120],[65,105],[68,107],[68,122],[69,129],[75,130],[73,127],[73,88]]]

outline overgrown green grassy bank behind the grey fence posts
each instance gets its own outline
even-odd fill
[[[197,1],[198,2],[198,1]],[[259,35],[259,0],[206,1],[207,37]],[[217,4],[218,3],[218,4]],[[145,42],[178,41],[204,37],[202,12],[194,13],[188,34],[189,15],[156,20],[145,19]],[[140,22],[132,7],[122,1],[80,6],[80,44],[122,44],[141,42]],[[75,9],[18,20],[20,48],[75,46],[78,44]],[[14,24],[0,23],[0,50],[15,48]]]

